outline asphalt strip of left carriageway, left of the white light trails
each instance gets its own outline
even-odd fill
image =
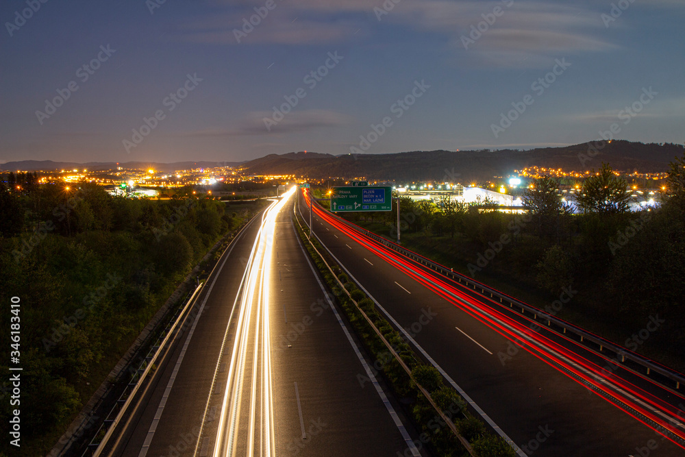
[[[179,456],[192,456],[195,451],[216,361],[221,352],[221,343],[242,273],[245,271],[245,259],[249,257],[260,222],[261,213],[251,221],[240,238],[234,240],[234,249],[216,277],[211,294],[207,296],[212,277],[198,298],[197,309],[205,297],[207,301],[202,314],[198,317],[195,331],[164,406],[148,456],[177,455],[176,452]],[[179,343],[186,341],[189,331],[190,325],[186,326],[184,335],[178,338]],[[177,344],[174,356],[164,367],[164,373],[158,380],[155,390],[145,400],[145,408],[140,411],[138,421],[132,422],[134,432],[121,455],[138,456],[142,449],[181,349],[182,344]]]

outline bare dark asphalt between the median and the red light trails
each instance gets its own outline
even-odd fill
[[[308,223],[309,208],[299,200]],[[525,454],[685,456],[682,447],[438,295],[430,282],[401,271],[324,218],[313,219],[321,242]],[[677,406],[681,400],[673,395],[666,401]]]

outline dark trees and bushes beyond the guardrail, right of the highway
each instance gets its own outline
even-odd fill
[[[570,292],[559,317],[685,371],[685,156],[670,164],[661,205],[638,212],[610,166],[596,173],[582,185],[582,214],[550,177],[525,192],[523,214],[402,198],[401,244],[540,308]],[[394,208],[344,217],[395,241]],[[640,338],[651,319],[660,325]]]

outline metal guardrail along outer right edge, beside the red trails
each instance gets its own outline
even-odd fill
[[[323,208],[325,210],[325,208]],[[521,308],[521,313],[525,314],[525,312],[528,312],[529,314],[533,314],[534,319],[538,319],[538,317],[547,320],[547,327],[552,328],[552,324],[555,325],[559,330],[561,330],[564,334],[566,332],[571,332],[572,334],[575,334],[576,336],[580,336],[580,343],[585,343],[586,341],[590,341],[592,343],[595,343],[599,347],[599,349],[595,349],[594,347],[591,347],[589,345],[584,345],[586,349],[590,349],[591,351],[594,351],[597,354],[601,353],[601,356],[605,356],[606,351],[611,351],[614,353],[614,362],[618,363],[619,362],[619,356],[621,357],[621,362],[625,364],[625,360],[630,360],[631,362],[636,363],[637,365],[640,365],[640,367],[643,367],[647,371],[647,375],[651,375],[652,372],[658,373],[662,375],[664,378],[667,380],[673,381],[673,384],[675,386],[667,385],[661,382],[658,379],[653,379],[654,382],[657,382],[658,384],[664,386],[665,388],[669,390],[676,390],[680,391],[681,390],[681,384],[685,384],[685,375],[682,375],[682,373],[678,373],[675,370],[669,369],[668,367],[664,367],[657,362],[654,362],[653,360],[649,360],[648,358],[645,358],[643,356],[640,356],[639,354],[636,354],[630,349],[626,349],[625,347],[616,345],[615,343],[612,343],[611,341],[606,340],[605,338],[601,338],[601,336],[597,336],[594,334],[591,334],[587,332],[586,330],[583,330],[580,327],[577,327],[576,325],[573,325],[572,323],[563,321],[562,319],[558,319],[557,317],[554,317],[553,315],[549,314],[548,312],[545,312],[544,310],[540,310],[538,308],[535,308],[534,306],[530,306],[529,304],[523,303],[523,301],[519,301],[515,299],[514,297],[510,297],[509,295],[506,295],[504,293],[501,293],[497,291],[494,288],[490,288],[486,286],[485,284],[482,284],[481,282],[477,282],[473,280],[471,277],[468,277],[466,275],[463,275],[462,273],[458,273],[456,271],[453,271],[453,269],[448,269],[442,264],[438,264],[437,262],[433,262],[429,258],[426,258],[424,256],[421,256],[421,254],[416,254],[414,251],[410,251],[409,249],[406,249],[404,247],[401,247],[400,245],[397,245],[397,243],[393,243],[390,240],[387,240],[386,238],[383,238],[382,236],[378,236],[377,234],[374,234],[373,232],[369,232],[369,230],[366,230],[362,227],[359,227],[358,225],[355,225],[349,221],[346,221],[345,219],[338,217],[336,214],[332,214],[333,217],[338,219],[339,221],[345,223],[347,227],[350,227],[352,230],[355,230],[356,232],[359,232],[360,234],[367,236],[373,240],[376,240],[379,243],[382,243],[386,247],[389,247],[390,249],[393,249],[394,251],[397,251],[399,254],[402,254],[405,257],[408,257],[415,262],[422,264],[423,266],[432,269],[436,271],[436,273],[440,273],[446,277],[451,277],[452,280],[458,280],[460,284],[464,284],[466,287],[473,286],[473,290],[477,291],[477,289],[480,289],[482,294],[489,293],[490,298],[495,298],[499,297],[499,301],[502,304],[508,303],[511,308],[516,306],[516,308]],[[478,292],[477,292],[478,293]],[[627,367],[626,365],[622,365],[625,369],[628,369],[630,371],[634,371],[631,367]],[[636,373],[636,371],[634,371]]]

